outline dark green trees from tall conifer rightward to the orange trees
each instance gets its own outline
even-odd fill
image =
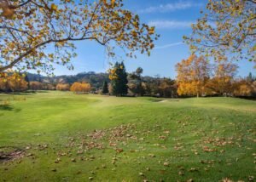
[[[127,73],[123,62],[115,63],[108,71],[109,94],[116,96],[177,97],[177,84],[167,77],[142,77],[143,68]]]

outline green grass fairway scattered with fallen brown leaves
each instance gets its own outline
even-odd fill
[[[255,101],[65,92],[3,100],[0,181],[256,179]]]

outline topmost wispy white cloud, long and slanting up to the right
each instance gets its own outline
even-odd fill
[[[173,12],[176,10],[190,9],[193,7],[201,7],[201,3],[191,3],[179,1],[177,3],[160,4],[159,6],[149,7],[147,9],[139,10],[139,13],[150,14],[150,13],[166,13]]]

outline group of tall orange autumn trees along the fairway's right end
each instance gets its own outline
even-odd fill
[[[238,66],[229,60],[211,64],[204,56],[192,54],[176,65],[177,94],[181,96],[239,96],[256,95],[256,78],[252,73],[236,77]]]

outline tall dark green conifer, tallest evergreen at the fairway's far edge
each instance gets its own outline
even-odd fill
[[[123,62],[116,62],[114,65],[114,69],[116,69],[115,74],[117,75],[117,79],[111,81],[113,94],[116,96],[124,96],[128,93],[128,80],[125,65]]]

